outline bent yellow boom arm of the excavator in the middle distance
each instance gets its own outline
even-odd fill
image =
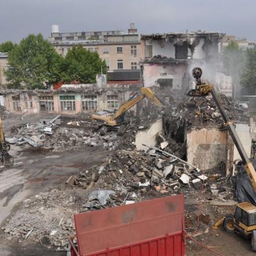
[[[148,99],[151,99],[154,104],[158,106],[162,106],[161,101],[154,95],[154,93],[150,90],[150,88],[140,88],[141,95],[136,96],[135,98],[130,99],[129,101],[123,103],[118,111],[116,111],[115,115],[113,116],[113,119],[118,118],[122,113],[125,113],[127,110],[132,108],[134,105],[136,105],[138,102],[140,102],[142,99],[147,97]]]

